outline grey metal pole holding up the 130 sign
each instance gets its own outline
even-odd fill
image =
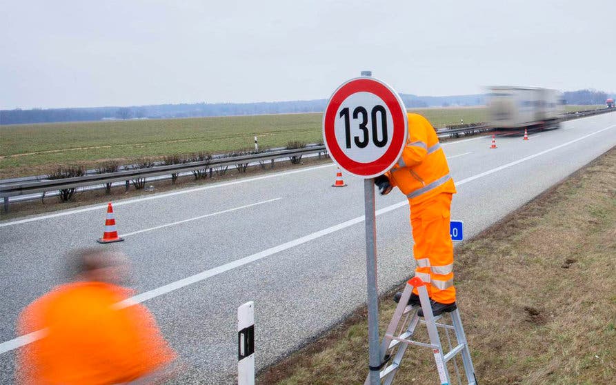
[[[361,71],[361,76],[372,76]],[[381,383],[381,352],[379,349],[379,290],[377,279],[377,221],[375,179],[364,179],[364,215],[366,217],[366,282],[368,291],[368,365],[370,385]]]

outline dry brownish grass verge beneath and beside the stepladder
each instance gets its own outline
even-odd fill
[[[457,247],[458,304],[479,384],[613,384],[615,272],[612,148]],[[381,336],[394,305],[381,298]],[[259,384],[361,384],[367,340],[361,308]],[[395,382],[437,384],[430,351],[410,347]]]

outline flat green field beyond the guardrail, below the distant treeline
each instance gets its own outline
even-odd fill
[[[435,127],[485,120],[485,108],[412,110]],[[0,126],[0,177],[46,174],[66,164],[95,167],[108,159],[130,163],[190,152],[226,152],[286,146],[289,141],[318,143],[321,113],[95,121]]]

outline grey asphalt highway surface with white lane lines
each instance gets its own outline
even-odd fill
[[[490,137],[448,142],[452,219],[473,237],[615,145],[616,114],[567,121],[529,141],[497,137],[497,149]],[[136,299],[187,364],[178,383],[235,381],[244,302],[255,302],[258,368],[364,304],[363,182],[347,176],[348,187],[332,188],[334,179],[328,164],[114,202],[126,241],[105,247],[130,256]],[[382,293],[414,264],[404,196],[377,195],[377,209]],[[98,205],[0,223],[1,383],[12,381],[19,312],[62,282],[68,250],[95,245],[105,212]]]

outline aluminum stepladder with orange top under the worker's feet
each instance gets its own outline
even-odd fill
[[[421,302],[421,308],[424,310],[424,317],[419,317],[417,314],[419,306],[407,305],[408,299],[410,298],[411,293],[413,293],[413,287],[417,287],[417,291],[419,292],[419,301]],[[443,313],[443,315],[445,314],[447,313]],[[394,376],[396,375],[404,357],[404,353],[406,352],[406,348],[408,348],[408,345],[417,345],[432,349],[441,385],[451,384],[450,375],[447,368],[447,363],[451,359],[453,359],[457,382],[459,384],[462,383],[458,365],[454,359],[457,354],[461,355],[462,365],[464,366],[464,373],[466,374],[468,385],[477,385],[475,368],[473,368],[473,361],[470,359],[470,351],[468,350],[466,335],[464,334],[464,328],[462,327],[459,310],[455,309],[448,314],[451,317],[451,325],[438,322],[443,315],[439,315],[437,317],[433,315],[432,306],[430,306],[430,298],[428,297],[428,290],[426,289],[426,283],[424,283],[419,277],[413,277],[407,282],[404,291],[402,292],[402,297],[398,302],[398,306],[396,307],[394,315],[385,332],[383,341],[381,342],[381,384],[392,384]],[[430,337],[429,344],[410,339],[413,337],[415,328],[417,328],[417,325],[419,324],[426,325],[426,328],[428,329],[428,337]],[[443,348],[441,346],[439,329],[445,330],[446,332],[446,341],[448,342],[450,349],[446,354],[443,353]],[[454,330],[457,341],[456,346],[451,345],[448,330]],[[366,378],[365,385],[368,384],[370,384],[369,378]]]

